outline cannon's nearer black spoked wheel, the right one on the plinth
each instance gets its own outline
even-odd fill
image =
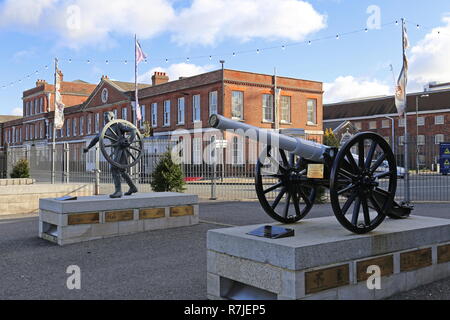
[[[377,171],[386,162],[389,169]],[[374,230],[393,205],[396,188],[395,157],[381,136],[360,133],[339,150],[330,174],[330,199],[334,215],[346,229],[358,234]],[[343,205],[340,197],[347,198]]]

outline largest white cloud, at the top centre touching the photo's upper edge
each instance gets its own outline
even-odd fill
[[[172,30],[177,43],[211,45],[224,38],[298,41],[325,26],[326,17],[305,1],[194,0]]]

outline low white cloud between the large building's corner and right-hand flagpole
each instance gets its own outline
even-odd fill
[[[376,79],[341,76],[324,83],[324,103],[392,94],[392,88]]]

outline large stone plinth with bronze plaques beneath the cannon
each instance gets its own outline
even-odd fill
[[[450,277],[450,220],[386,219],[355,235],[326,217],[284,225],[290,238],[246,234],[260,226],[208,231],[209,299],[383,299]]]

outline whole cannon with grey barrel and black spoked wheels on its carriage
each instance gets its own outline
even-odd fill
[[[264,211],[279,222],[303,219],[320,187],[330,190],[339,223],[357,234],[374,230],[386,216],[405,218],[412,210],[394,201],[397,165],[378,134],[359,133],[337,149],[217,114],[209,124],[267,145],[256,164],[255,188]],[[380,171],[382,164],[386,169]]]

